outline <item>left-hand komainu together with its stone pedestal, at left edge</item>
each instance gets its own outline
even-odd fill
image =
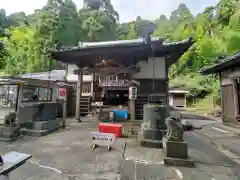
[[[0,126],[0,141],[13,141],[20,137],[20,127],[16,123],[16,112],[9,112]]]

